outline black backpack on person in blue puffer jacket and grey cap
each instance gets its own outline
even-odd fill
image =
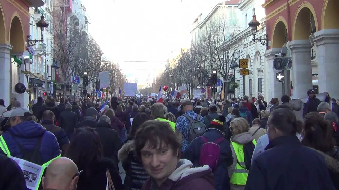
[[[32,162],[34,164],[38,164],[40,166],[44,164],[42,163],[41,153],[40,153],[40,145],[41,145],[41,140],[42,140],[43,135],[41,135],[41,137],[38,138],[38,141],[35,144],[33,150],[27,150],[20,143],[18,143],[18,141],[15,140],[14,135],[11,132],[9,132],[9,134],[11,134],[11,136],[13,137],[13,140],[17,143],[19,147],[19,150],[22,155],[21,159],[26,160],[28,162]]]

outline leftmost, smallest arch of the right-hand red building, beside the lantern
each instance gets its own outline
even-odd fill
[[[281,48],[287,41],[287,22],[284,17],[278,17],[273,25],[271,38],[272,48]]]

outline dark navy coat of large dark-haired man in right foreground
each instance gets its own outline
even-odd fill
[[[275,138],[252,160],[245,190],[334,190],[324,157],[295,135]],[[316,163],[316,164],[315,164]]]

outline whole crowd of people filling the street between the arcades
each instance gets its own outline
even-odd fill
[[[0,189],[339,189],[338,104],[307,94],[303,106],[286,95],[0,100]]]

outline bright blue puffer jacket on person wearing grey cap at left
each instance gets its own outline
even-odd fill
[[[46,163],[60,155],[60,149],[57,138],[53,133],[46,131],[46,129],[35,121],[24,121],[9,128],[13,134],[8,131],[2,134],[11,156],[22,158],[21,152],[14,139],[25,149],[33,150],[38,138],[42,136],[40,153],[41,162]],[[2,150],[0,150],[2,152]]]

